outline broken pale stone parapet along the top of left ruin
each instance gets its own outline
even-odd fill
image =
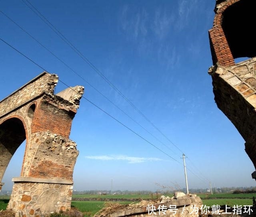
[[[0,118],[43,95],[46,98],[50,98],[52,102],[62,107],[68,107],[68,110],[76,112],[84,93],[84,87],[68,87],[64,91],[54,95],[54,87],[57,83],[58,75],[44,71],[0,101]]]

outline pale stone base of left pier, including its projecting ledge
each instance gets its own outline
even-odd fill
[[[22,217],[66,211],[71,207],[73,182],[58,179],[13,178],[12,195],[7,209]]]

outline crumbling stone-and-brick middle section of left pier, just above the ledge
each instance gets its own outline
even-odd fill
[[[51,132],[34,133],[22,175],[72,181],[77,156],[75,142]]]

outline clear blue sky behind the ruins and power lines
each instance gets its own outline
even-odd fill
[[[215,0],[31,2],[146,118],[24,2],[2,1],[0,10],[68,67],[2,13],[1,38],[62,82],[83,85],[84,97],[151,143],[82,99],[70,134],[80,152],[74,189],[185,187],[182,153],[189,188],[255,186],[244,140],[218,110],[208,75]],[[43,70],[2,41],[0,50],[3,99]],[[24,147],[3,190],[20,175]]]

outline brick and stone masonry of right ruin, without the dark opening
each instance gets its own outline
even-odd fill
[[[250,4],[255,4],[254,1],[242,0],[216,1],[216,16],[213,28],[209,30],[214,66],[210,67],[208,73],[212,76],[214,100],[218,108],[230,119],[246,141],[245,151],[256,168],[256,57],[235,63],[222,29],[223,13],[238,3],[239,7],[236,5],[233,9],[240,9],[243,14],[250,9]],[[228,15],[233,16],[230,11]],[[236,12],[236,15],[238,13],[235,10],[233,12]],[[229,37],[232,38],[232,34]],[[244,50],[236,50],[236,44],[233,46],[236,55],[244,54]],[[251,47],[245,48],[245,52],[249,50],[250,54],[253,54],[250,49]],[[252,173],[252,178],[256,178],[256,172]]]

